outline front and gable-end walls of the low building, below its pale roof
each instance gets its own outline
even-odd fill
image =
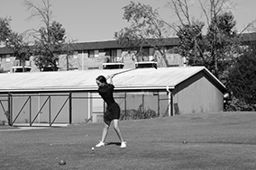
[[[72,122],[103,121],[104,102],[96,92],[72,92]],[[223,93],[204,72],[188,78],[172,91],[173,112],[187,114],[196,112],[223,111]],[[50,98],[49,98],[50,97]],[[160,117],[170,115],[171,103],[166,91],[148,90],[141,92],[114,93],[114,98],[123,113],[155,112]],[[7,110],[6,95],[0,98]],[[12,96],[12,121],[14,124],[29,123],[69,123],[69,92],[16,94]],[[7,121],[5,111],[0,108],[0,120]],[[38,117],[37,114],[39,113]]]

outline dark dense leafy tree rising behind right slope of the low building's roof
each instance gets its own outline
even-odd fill
[[[235,22],[232,13],[221,13],[212,20],[207,34],[207,50],[210,52],[209,69],[219,77],[227,69],[235,54],[240,53],[240,40],[236,31],[233,31]]]

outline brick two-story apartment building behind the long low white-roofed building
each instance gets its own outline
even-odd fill
[[[147,44],[143,46],[143,55],[135,57],[133,52],[128,52],[116,40],[73,43],[70,47],[74,51],[73,55],[59,56],[59,70],[167,67],[167,62],[168,67],[186,64],[183,58],[175,54],[178,38],[165,39],[164,46],[167,50],[167,61]],[[4,47],[0,48],[0,67],[2,72],[22,72],[20,61],[14,57],[10,49]],[[34,65],[33,57],[25,62],[25,71],[39,71]]]

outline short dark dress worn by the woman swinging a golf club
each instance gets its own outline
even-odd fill
[[[118,120],[120,118],[120,107],[114,101],[113,97],[114,85],[106,84],[98,88],[98,94],[101,95],[106,106],[106,111],[104,113],[104,121],[106,124],[110,124],[113,120]]]

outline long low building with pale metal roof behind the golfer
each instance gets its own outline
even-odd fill
[[[7,121],[9,114],[13,125],[102,121],[105,103],[97,94],[96,77],[120,71],[0,74],[0,120]],[[224,109],[225,87],[206,67],[137,68],[114,76],[114,86],[115,100],[126,116],[136,111],[164,117]]]

